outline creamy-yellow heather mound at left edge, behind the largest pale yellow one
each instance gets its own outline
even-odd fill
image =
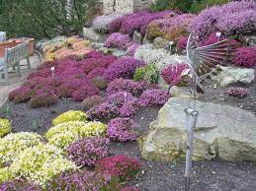
[[[0,164],[11,163],[25,149],[39,145],[43,137],[36,133],[12,133],[0,139]]]

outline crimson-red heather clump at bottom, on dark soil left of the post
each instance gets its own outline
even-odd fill
[[[127,156],[114,156],[100,159],[96,163],[96,171],[111,174],[120,178],[121,181],[132,179],[140,170],[141,164],[137,159]]]

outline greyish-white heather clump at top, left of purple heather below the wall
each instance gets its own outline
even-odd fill
[[[109,32],[110,24],[114,20],[116,20],[116,19],[118,19],[122,16],[123,16],[123,14],[120,14],[120,13],[113,13],[113,14],[110,14],[110,15],[98,16],[93,21],[92,28],[96,32]]]

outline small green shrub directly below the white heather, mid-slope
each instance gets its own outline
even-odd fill
[[[157,83],[159,71],[155,65],[146,65],[144,67],[137,68],[134,75],[134,81],[146,80],[150,84]]]

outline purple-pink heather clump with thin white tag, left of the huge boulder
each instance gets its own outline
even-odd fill
[[[87,114],[90,118],[129,117],[137,109],[136,98],[130,93],[120,92],[108,96],[107,100],[93,108]]]

